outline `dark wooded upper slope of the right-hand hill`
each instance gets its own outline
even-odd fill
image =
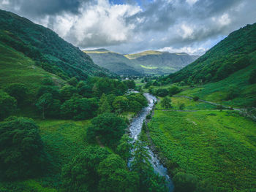
[[[256,62],[256,23],[234,31],[179,72],[172,82],[216,82]]]

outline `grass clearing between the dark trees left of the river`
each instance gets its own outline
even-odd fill
[[[86,130],[90,120],[36,120],[46,152],[53,161],[52,174],[35,179],[0,183],[0,191],[56,192],[61,185],[61,168],[88,146]]]

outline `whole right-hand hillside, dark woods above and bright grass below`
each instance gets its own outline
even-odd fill
[[[182,94],[233,107],[256,107],[256,23],[231,33],[166,82],[184,82]]]

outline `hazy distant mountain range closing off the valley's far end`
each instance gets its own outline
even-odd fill
[[[198,56],[149,50],[121,55],[105,49],[85,50],[94,63],[116,74],[170,74],[195,61]]]

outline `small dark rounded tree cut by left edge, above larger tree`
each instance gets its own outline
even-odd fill
[[[17,107],[15,98],[0,90],[0,120],[7,118]]]

